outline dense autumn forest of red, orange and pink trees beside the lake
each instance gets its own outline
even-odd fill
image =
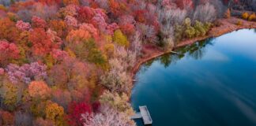
[[[0,125],[130,126],[144,46],[172,50],[256,0],[0,0]]]

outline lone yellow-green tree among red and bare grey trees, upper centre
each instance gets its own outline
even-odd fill
[[[120,46],[129,46],[129,41],[126,35],[122,34],[121,30],[116,30],[114,33],[113,40],[115,43],[119,44]]]

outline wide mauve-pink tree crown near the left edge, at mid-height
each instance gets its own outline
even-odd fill
[[[12,83],[30,83],[32,80],[42,80],[47,76],[47,66],[40,65],[38,62],[24,64],[21,67],[10,64],[6,68],[9,80]]]

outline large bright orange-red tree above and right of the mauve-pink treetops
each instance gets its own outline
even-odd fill
[[[36,55],[43,56],[58,48],[58,45],[51,41],[51,36],[43,28],[35,28],[28,39],[32,43],[32,52]]]

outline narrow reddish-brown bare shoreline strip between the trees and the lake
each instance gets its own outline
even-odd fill
[[[221,23],[220,26],[211,28],[208,35],[205,35],[202,37],[197,37],[194,39],[183,40],[183,41],[179,42],[172,50],[177,49],[179,47],[183,47],[183,46],[187,46],[187,45],[196,43],[196,42],[204,40],[204,39],[215,38],[220,35],[228,34],[232,31],[238,31],[238,30],[247,29],[247,28],[248,29],[256,28],[256,22],[239,19],[237,17],[231,17],[229,19],[220,19],[217,21],[220,21],[220,23]],[[237,23],[238,21],[241,21],[242,25],[236,25],[235,23]],[[143,46],[143,48],[145,48],[145,46]],[[171,53],[171,50],[163,51],[163,50],[160,50],[160,48],[158,48],[156,46],[155,46],[155,49],[152,49],[151,51],[153,51],[153,52],[145,51],[145,56],[137,59],[137,62],[135,63],[133,69],[130,71],[132,80],[135,79],[134,77],[135,77],[137,71],[141,68],[141,65],[143,65],[146,61],[152,60],[156,57],[160,57],[164,54]],[[134,81],[132,82],[132,85],[134,87]]]

